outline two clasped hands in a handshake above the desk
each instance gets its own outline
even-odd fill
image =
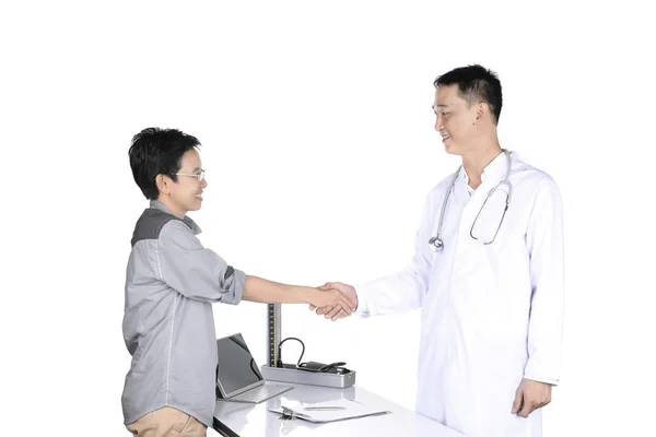
[[[358,294],[351,285],[341,282],[327,282],[313,288],[309,310],[324,315],[326,319],[338,320],[351,316],[358,309]]]

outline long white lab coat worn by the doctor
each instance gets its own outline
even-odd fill
[[[429,239],[453,175],[427,197],[409,265],[355,286],[361,317],[421,307],[417,411],[470,437],[541,436],[540,410],[528,418],[511,414],[515,392],[523,378],[559,381],[560,191],[548,174],[511,156],[513,194],[494,243],[472,239],[470,227],[488,191],[505,175],[503,153],[485,167],[473,192],[460,170],[444,217],[442,251],[434,252]]]

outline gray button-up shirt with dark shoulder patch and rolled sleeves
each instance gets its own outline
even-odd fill
[[[132,363],[125,424],[162,406],[212,426],[216,333],[212,304],[238,304],[246,274],[198,238],[200,228],[151,201],[134,227],[125,290],[124,339]]]

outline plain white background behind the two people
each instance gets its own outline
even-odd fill
[[[502,145],[563,194],[564,362],[544,436],[654,433],[656,35],[642,2],[9,3],[4,428],[127,434],[125,267],[147,206],[128,165],[134,133],[200,139],[209,187],[191,216],[233,265],[366,281],[405,267],[425,194],[458,165],[433,130],[433,80],[478,62],[503,84]],[[266,306],[214,310],[216,334],[243,332],[263,364]],[[288,306],[283,336],[413,408],[418,316],[332,323]],[[298,352],[288,342],[283,357]]]

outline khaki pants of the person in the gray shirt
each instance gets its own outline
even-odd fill
[[[207,437],[207,426],[169,406],[145,414],[127,428],[138,437]]]

